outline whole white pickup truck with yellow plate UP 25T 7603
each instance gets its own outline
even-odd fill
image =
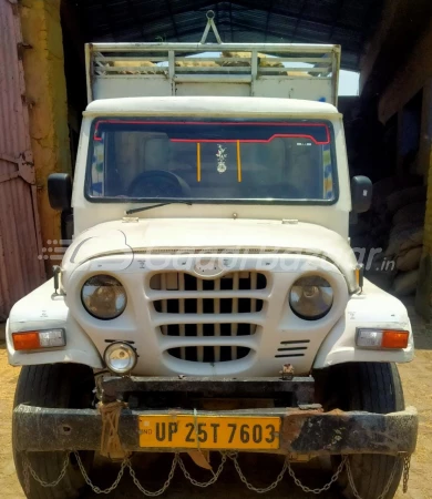
[[[339,47],[86,55],[73,194],[49,179],[74,238],[7,326],[28,497],[76,497],[102,449],[131,473],[132,452],[238,470],[240,452],[278,454],[277,481],[326,455],[346,497],[392,498],[416,440],[395,367],[413,337],[350,248],[371,184],[349,179]]]

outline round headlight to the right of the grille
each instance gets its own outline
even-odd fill
[[[300,277],[291,287],[289,305],[294,313],[306,319],[323,317],[333,303],[333,289],[323,277],[310,275]]]

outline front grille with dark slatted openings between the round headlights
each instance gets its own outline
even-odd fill
[[[199,363],[219,363],[244,358],[249,348],[238,345],[238,337],[256,333],[267,286],[265,274],[232,272],[223,277],[200,278],[185,272],[154,274],[150,279],[150,297],[156,317],[161,315],[160,333],[187,337],[185,346],[167,353],[176,358]],[[264,296],[265,297],[265,296]],[[224,337],[224,345],[191,346],[192,337]],[[229,338],[229,345],[227,344]]]

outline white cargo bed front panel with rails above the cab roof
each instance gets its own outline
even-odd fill
[[[89,43],[89,102],[166,95],[337,104],[340,47],[298,43]]]

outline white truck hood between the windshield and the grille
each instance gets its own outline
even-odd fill
[[[63,257],[63,273],[101,256],[140,253],[301,253],[331,261],[352,283],[357,261],[336,232],[298,221],[124,218],[81,233]],[[352,291],[352,289],[351,289]]]

